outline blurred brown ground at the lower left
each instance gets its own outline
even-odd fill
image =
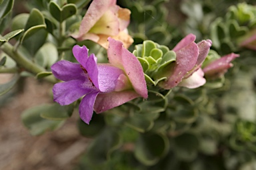
[[[9,77],[1,74],[0,84]],[[21,112],[31,106],[51,102],[51,86],[27,78],[23,92],[4,100],[6,104],[3,105],[3,96],[0,96],[0,169],[73,169],[85,150],[89,140],[77,131],[77,112],[62,128],[41,136],[30,135],[23,126]]]

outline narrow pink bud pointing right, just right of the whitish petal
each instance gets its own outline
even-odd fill
[[[214,79],[223,76],[223,74],[227,72],[227,69],[233,66],[231,61],[237,57],[239,57],[239,54],[231,53],[209,63],[207,66],[203,68],[205,77]]]

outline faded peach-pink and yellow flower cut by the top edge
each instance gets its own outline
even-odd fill
[[[78,41],[91,40],[108,47],[107,38],[112,37],[128,48],[133,39],[127,33],[131,11],[116,5],[116,0],[94,0],[81,21],[78,33],[71,36]]]

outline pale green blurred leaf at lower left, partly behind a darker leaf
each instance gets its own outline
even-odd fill
[[[21,114],[21,120],[31,135],[41,135],[46,131],[53,131],[63,126],[65,122],[63,120],[46,120],[41,117],[41,114],[50,108],[49,104],[43,104],[29,108]]]

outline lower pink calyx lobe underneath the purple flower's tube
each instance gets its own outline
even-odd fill
[[[105,112],[137,97],[139,97],[139,94],[133,90],[99,94],[94,104],[94,110],[97,113]]]

